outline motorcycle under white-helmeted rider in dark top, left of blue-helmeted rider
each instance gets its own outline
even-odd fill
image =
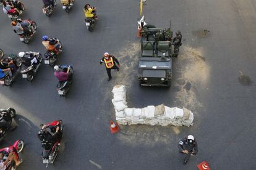
[[[20,73],[22,73],[22,78],[26,78],[27,81],[32,81],[34,78],[35,73],[37,72],[38,68],[40,67],[40,64],[42,62],[42,56],[39,52],[36,52],[36,60],[38,63],[36,65],[30,65],[29,67],[22,65],[22,68],[20,70]]]

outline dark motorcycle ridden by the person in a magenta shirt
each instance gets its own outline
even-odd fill
[[[66,67],[64,68],[64,71],[67,71],[67,69],[69,68],[70,75],[67,81],[59,81],[59,83],[57,84],[57,91],[60,96],[66,96],[67,92],[69,91],[70,84],[72,83],[72,76],[74,70],[73,67],[70,65],[62,65],[62,67]]]

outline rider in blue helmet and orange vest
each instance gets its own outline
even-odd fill
[[[49,52],[54,51],[55,54],[59,54],[60,46],[58,44],[58,39],[56,38],[48,38],[48,36],[44,35],[42,37],[43,41],[42,44],[45,46],[46,50]]]

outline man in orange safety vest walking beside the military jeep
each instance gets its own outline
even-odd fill
[[[105,52],[104,56],[100,60],[100,64],[105,63],[106,71],[108,73],[108,81],[111,80],[111,69],[119,71],[119,62],[113,55],[109,55],[108,52]]]

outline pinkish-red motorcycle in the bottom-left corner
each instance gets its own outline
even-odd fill
[[[23,148],[24,148],[24,141],[17,140],[13,145],[0,149],[0,152],[4,154],[4,157],[2,158],[2,160],[6,161],[9,153],[11,153],[11,152],[14,152],[17,159],[20,160],[18,153],[22,152]],[[6,165],[6,169],[16,169],[16,166],[15,165],[12,166],[11,163],[8,163]]]

